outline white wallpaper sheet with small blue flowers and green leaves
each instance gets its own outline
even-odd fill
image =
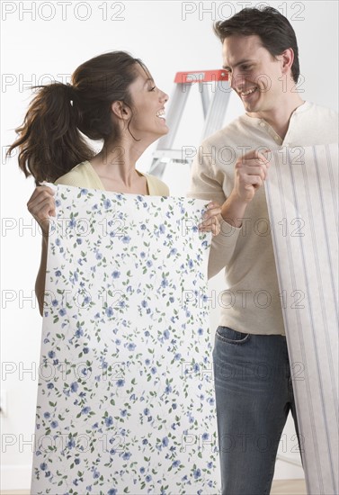
[[[52,187],[31,493],[219,493],[206,203]]]

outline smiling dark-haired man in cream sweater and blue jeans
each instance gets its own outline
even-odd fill
[[[246,8],[215,31],[245,114],[202,143],[190,195],[222,204],[209,262],[228,287],[213,351],[222,493],[263,495],[290,410],[299,431],[263,188],[268,151],[336,142],[337,116],[300,98],[296,36],[277,10]]]

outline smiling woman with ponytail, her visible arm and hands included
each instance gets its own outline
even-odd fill
[[[19,138],[19,166],[36,184],[43,181],[115,193],[168,195],[167,186],[138,172],[145,149],[165,135],[167,94],[156,87],[147,67],[124,51],[91,58],[76,68],[72,85],[40,86]],[[98,154],[85,137],[103,140]],[[49,216],[55,216],[54,192],[38,186],[27,203],[43,232],[40,269],[35,284],[43,309]],[[201,231],[219,233],[219,205],[210,202]]]

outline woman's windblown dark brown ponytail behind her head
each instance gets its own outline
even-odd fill
[[[19,166],[36,184],[54,182],[78,163],[94,156],[77,128],[81,119],[76,105],[76,89],[72,85],[53,83],[40,88],[35,95],[22,126],[16,129],[18,139],[8,149],[11,155],[19,148]]]

